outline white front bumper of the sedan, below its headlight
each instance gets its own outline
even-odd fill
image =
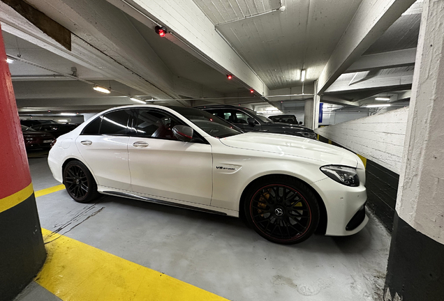
[[[369,222],[365,214],[367,190],[364,185],[348,187],[325,178],[311,184],[323,199],[327,210],[327,236],[349,236]]]

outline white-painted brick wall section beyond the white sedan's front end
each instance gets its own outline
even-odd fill
[[[315,130],[395,173],[401,171],[408,108],[364,117]]]

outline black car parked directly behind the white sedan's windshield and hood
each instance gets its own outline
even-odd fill
[[[245,132],[270,132],[316,139],[315,132],[309,128],[304,128],[301,125],[274,123],[269,118],[256,113],[256,111],[253,111],[252,109],[235,107],[232,105],[215,105],[196,108],[208,111],[209,113],[236,125]]]

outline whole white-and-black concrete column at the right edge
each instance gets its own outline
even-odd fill
[[[444,300],[443,16],[424,1],[385,301]]]

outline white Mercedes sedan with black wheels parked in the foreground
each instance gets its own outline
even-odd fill
[[[99,194],[242,217],[293,244],[368,222],[364,164],[323,142],[242,132],[187,107],[135,105],[97,114],[57,138],[48,162],[78,202]]]

